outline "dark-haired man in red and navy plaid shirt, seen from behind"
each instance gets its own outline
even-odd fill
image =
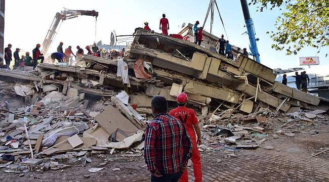
[[[163,96],[151,100],[154,119],[145,130],[144,159],[151,172],[151,181],[177,182],[187,169],[192,144],[182,122],[168,114]]]

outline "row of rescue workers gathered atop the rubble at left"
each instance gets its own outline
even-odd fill
[[[50,58],[52,60],[52,63],[55,63],[55,60],[57,60],[58,63],[67,63],[68,65],[71,65],[74,61],[73,57],[75,58],[75,62],[81,61],[82,56],[84,55],[84,50],[77,45],[76,53],[74,54],[72,51],[71,45],[69,45],[65,50],[63,50],[63,42],[60,42],[57,47],[57,52],[52,53],[50,55]],[[14,56],[14,65],[13,69],[17,69],[19,67],[25,67],[25,66],[31,66],[33,69],[37,66],[39,63],[43,63],[45,60],[44,55],[40,52],[41,45],[38,43],[36,44],[36,47],[32,50],[32,55],[30,56],[29,52],[25,52],[25,55],[19,56],[20,49],[16,48],[15,52],[12,53],[12,44],[8,44],[8,47],[5,48],[4,51],[4,60],[0,57],[0,68],[7,68],[10,69],[9,66],[11,62],[13,61]],[[87,54],[96,56],[96,57],[102,57],[105,59],[115,59],[118,56],[124,55],[125,49],[120,50],[119,52],[116,50],[107,51],[105,48],[99,49],[94,43],[92,45],[92,48],[90,49],[90,45],[86,46]]]

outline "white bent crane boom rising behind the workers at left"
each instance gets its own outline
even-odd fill
[[[96,17],[96,20],[97,20],[98,12],[96,12],[95,10],[85,11],[85,10],[67,10],[67,9],[64,9],[64,11],[61,11],[61,13],[57,12],[52,24],[50,25],[47,35],[45,37],[45,40],[43,43],[43,48],[42,48],[43,54],[47,54],[48,49],[50,48],[50,45],[55,38],[56,32],[58,31],[57,27],[58,27],[60,21],[76,18],[79,15],[93,16],[93,17]]]

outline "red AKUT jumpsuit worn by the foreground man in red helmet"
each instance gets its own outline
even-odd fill
[[[186,108],[185,106],[179,106],[176,109],[171,110],[169,114],[179,119],[185,124],[187,133],[189,134],[192,141],[191,161],[193,162],[193,172],[194,172],[195,182],[202,181],[201,156],[197,148],[196,135],[193,126],[193,124],[198,123],[198,120],[196,118],[194,110]],[[187,170],[183,172],[179,181],[180,182],[188,181]]]

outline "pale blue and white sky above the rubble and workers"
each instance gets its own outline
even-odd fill
[[[169,19],[169,33],[178,33],[183,23],[192,23],[196,20],[203,24],[210,1],[154,1],[154,0],[15,0],[6,1],[5,10],[5,47],[8,43],[13,48],[20,48],[22,51],[31,52],[36,43],[42,44],[56,12],[64,8],[70,10],[96,10],[99,12],[97,24],[95,18],[90,16],[79,16],[64,21],[56,35],[54,43],[49,52],[56,52],[60,41],[64,42],[63,48],[72,45],[75,52],[76,45],[85,48],[95,41],[102,40],[103,43],[110,43],[110,33],[115,30],[116,35],[132,34],[136,27],[143,27],[144,22],[149,22],[152,30],[158,29],[159,19],[162,13]],[[249,1],[248,1],[249,2]],[[224,21],[228,39],[231,44],[249,50],[248,35],[242,34],[246,31],[243,27],[244,19],[238,0],[218,0],[217,4]],[[329,48],[321,48],[320,53],[314,48],[304,48],[297,55],[286,56],[285,51],[275,51],[271,48],[272,39],[266,34],[267,31],[275,30],[275,20],[282,13],[279,10],[256,12],[256,6],[250,6],[249,11],[254,21],[258,50],[261,63],[272,68],[294,68],[299,66],[299,57],[318,56],[321,67],[329,65]],[[210,31],[210,19],[208,19],[205,31]],[[223,25],[220,22],[218,13],[215,12],[213,34],[220,36],[224,33]],[[241,35],[242,34],[242,35]],[[126,44],[122,42],[121,44]]]

